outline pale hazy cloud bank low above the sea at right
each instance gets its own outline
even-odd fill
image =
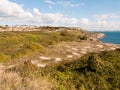
[[[91,30],[120,30],[120,19],[118,14],[94,15],[96,22],[91,23],[87,28]]]

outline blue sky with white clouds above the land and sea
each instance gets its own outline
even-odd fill
[[[120,0],[0,0],[0,25],[120,31]]]

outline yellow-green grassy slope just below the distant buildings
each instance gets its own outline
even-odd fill
[[[30,55],[33,52],[43,52],[55,44],[67,41],[86,39],[81,31],[62,30],[58,32],[1,32],[0,62]]]

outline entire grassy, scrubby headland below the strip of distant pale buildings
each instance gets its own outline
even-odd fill
[[[120,49],[101,51],[112,46],[87,41],[92,33],[83,30],[47,28],[0,33],[0,90],[120,90]]]

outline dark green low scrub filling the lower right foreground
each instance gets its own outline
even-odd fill
[[[42,73],[58,82],[58,90],[119,90],[120,50],[87,54],[48,66]]]

